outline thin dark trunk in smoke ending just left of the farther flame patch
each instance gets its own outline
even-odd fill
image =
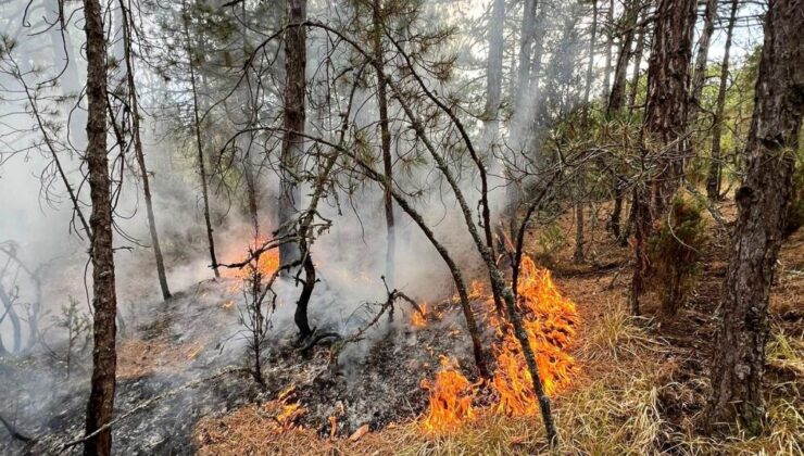
[[[190,71],[190,89],[192,90],[192,119],[193,129],[196,136],[196,151],[198,157],[198,173],[201,178],[201,198],[203,202],[204,212],[204,224],[206,226],[206,242],[210,248],[210,262],[212,262],[212,270],[215,274],[215,278],[221,277],[221,271],[217,266],[217,256],[215,255],[215,238],[212,229],[212,218],[210,217],[210,190],[206,176],[206,164],[204,157],[203,142],[201,141],[201,117],[199,116],[199,97],[198,87],[196,84],[196,52],[192,47],[190,38],[189,22],[190,12],[187,10],[186,3],[183,3],[184,14],[184,33],[185,33],[185,47],[188,58],[188,66]]]

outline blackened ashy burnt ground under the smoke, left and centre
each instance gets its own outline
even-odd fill
[[[272,331],[261,387],[248,371],[237,305],[226,305],[239,294],[230,281],[202,282],[166,304],[150,305],[134,328],[127,325],[118,341],[115,417],[122,418],[114,426],[115,454],[194,454],[193,428],[201,418],[271,401],[288,387],[304,407],[299,423],[322,435],[332,432],[330,416],[337,418],[337,435],[364,425],[380,429],[425,409],[419,381],[437,370],[439,354],[457,354],[462,365],[472,364],[452,304],[442,303],[440,315],[422,329],[411,328],[410,306],[399,305],[393,321],[384,316],[364,340],[342,350],[337,365],[330,364],[326,341],[302,353],[292,326]],[[0,430],[0,454],[56,454],[83,434],[88,356],[70,379],[65,364],[45,353],[0,364],[0,384],[9,387],[0,392],[0,413],[35,438],[24,444]],[[127,415],[130,410],[136,411]]]

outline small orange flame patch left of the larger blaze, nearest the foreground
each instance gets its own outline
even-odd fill
[[[422,421],[424,429],[430,432],[454,429],[470,419],[478,385],[461,373],[457,360],[441,356],[441,370],[436,373],[436,380],[422,380],[422,388],[430,395],[430,408]]]

